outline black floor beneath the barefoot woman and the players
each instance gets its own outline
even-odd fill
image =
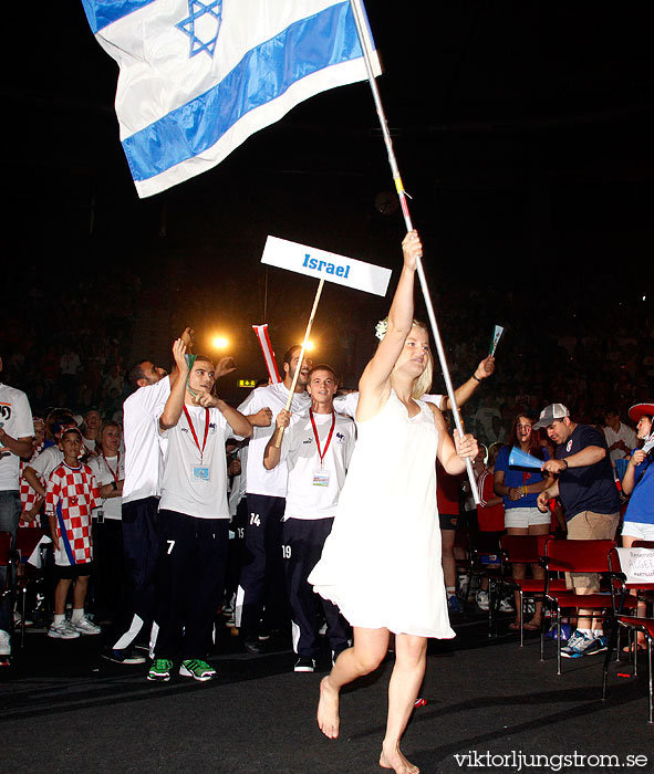
[[[558,677],[553,644],[541,662],[538,638],[520,648],[506,625],[489,638],[479,619],[457,626],[456,640],[430,644],[427,704],[403,745],[409,760],[424,774],[652,771],[645,657],[636,678],[621,677],[632,672],[627,662],[611,665],[602,702],[603,656],[565,660]],[[344,691],[341,738],[330,741],[314,720],[324,671],[293,673],[283,639],[251,656],[225,630],[210,659],[218,678],[208,683],[152,683],[145,666],[111,663],[100,650],[101,637],[27,635],[0,670],[3,772],[381,771],[392,659]]]

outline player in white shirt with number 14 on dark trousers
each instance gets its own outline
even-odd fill
[[[258,387],[239,406],[239,411],[255,426],[247,467],[247,556],[236,598],[236,625],[241,629],[243,645],[250,652],[261,652],[263,646],[259,637],[264,637],[270,628],[281,626],[287,617],[281,553],[287,466],[282,461],[273,470],[266,470],[263,452],[274,431],[272,417],[286,408],[300,349],[300,346],[293,346],[284,354],[283,381]],[[311,402],[307,395],[311,365],[310,359],[302,363],[291,401],[293,414],[307,411]]]

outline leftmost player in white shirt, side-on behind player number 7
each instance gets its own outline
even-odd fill
[[[193,331],[181,335],[190,345]],[[178,339],[179,341],[179,339]],[[110,637],[112,660],[129,663],[126,651],[152,624],[155,600],[155,565],[159,553],[158,506],[162,474],[158,414],[178,374],[170,376],[152,360],[141,360],[129,372],[136,387],[123,404],[125,479],[122,495],[125,578],[123,600]]]

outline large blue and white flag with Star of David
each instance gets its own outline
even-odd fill
[[[347,0],[82,2],[121,69],[116,114],[139,197],[211,169],[303,100],[367,77]]]

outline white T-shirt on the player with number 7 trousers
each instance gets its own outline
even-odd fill
[[[186,406],[200,448],[204,443],[207,409]],[[162,407],[163,411],[163,407]],[[207,442],[201,454],[186,414],[177,425],[162,431],[168,439],[162,479],[159,509],[197,519],[229,519],[227,505],[227,454],[225,441],[233,430],[217,408],[210,408]]]

